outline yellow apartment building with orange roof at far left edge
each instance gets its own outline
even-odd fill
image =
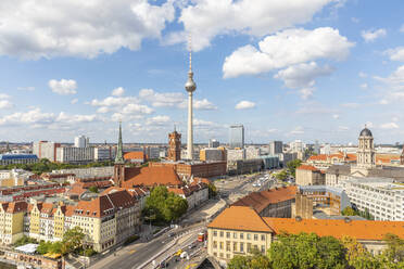
[[[24,235],[23,219],[27,203],[11,202],[0,204],[0,243],[14,244]]]

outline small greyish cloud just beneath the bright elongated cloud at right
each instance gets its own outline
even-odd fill
[[[313,87],[316,77],[327,76],[332,71],[332,67],[328,65],[318,66],[315,62],[301,63],[279,71],[274,78],[282,79],[285,86],[292,89]]]

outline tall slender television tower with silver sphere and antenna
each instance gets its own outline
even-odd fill
[[[193,115],[192,115],[192,95],[197,90],[197,84],[193,81],[193,72],[192,72],[192,49],[189,50],[189,72],[188,80],[185,85],[185,88],[188,92],[188,137],[187,137],[187,158],[193,158]]]

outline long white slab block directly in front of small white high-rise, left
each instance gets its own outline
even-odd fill
[[[93,148],[58,148],[56,162],[59,163],[90,163],[94,159]]]

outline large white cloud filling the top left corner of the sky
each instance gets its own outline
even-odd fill
[[[175,18],[173,2],[2,0],[0,55],[94,57],[121,48],[137,50],[144,38],[160,38]]]

